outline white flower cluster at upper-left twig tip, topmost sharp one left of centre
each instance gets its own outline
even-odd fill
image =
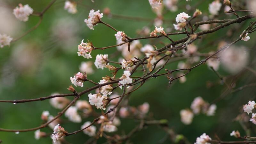
[[[103,13],[100,13],[100,10],[94,12],[94,10],[91,10],[88,19],[85,19],[84,22],[86,23],[87,27],[90,29],[94,29],[93,27],[96,26],[103,17]]]

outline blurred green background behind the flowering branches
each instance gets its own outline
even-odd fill
[[[101,10],[108,7],[111,13],[125,16],[136,16],[154,20],[156,14],[152,12],[148,0],[80,0],[77,5],[78,12],[74,15],[63,9],[63,0],[57,0],[55,4],[44,14],[43,21],[40,26],[24,36],[17,42],[11,44],[10,47],[4,47],[0,52],[0,99],[16,100],[16,99],[33,99],[50,95],[53,92],[69,93],[67,88],[71,84],[70,76],[74,76],[79,71],[79,65],[82,61],[92,60],[94,62],[97,54],[113,54],[116,48],[104,51],[98,50],[92,52],[93,59],[85,59],[77,56],[77,45],[82,39],[89,39],[96,47],[104,47],[116,44],[115,32],[104,26],[97,25],[94,30],[90,30],[84,23],[91,9]],[[200,4],[197,4],[200,2]],[[164,19],[169,20],[162,25],[166,32],[173,30],[172,24],[175,17],[180,12],[186,12],[190,16],[193,15],[195,8],[200,9],[204,16],[208,16],[208,4],[212,0],[186,2],[179,0],[176,12],[166,10]],[[234,0],[236,3],[241,1]],[[29,21],[20,22],[12,14],[12,9],[19,3],[29,4],[35,12],[42,11],[50,0],[34,1],[34,0],[0,0],[0,33],[6,33],[12,37],[18,37],[23,32],[33,27],[39,20],[36,16],[30,16]],[[244,5],[244,2],[241,3]],[[191,8],[189,10],[189,8]],[[239,15],[248,13],[241,12]],[[194,20],[201,21],[203,16]],[[235,16],[223,13],[223,7],[220,10],[218,19],[234,19]],[[139,20],[123,20],[107,16],[103,16],[102,20],[109,23],[114,28],[124,31],[130,37],[138,37],[136,30],[146,25],[153,30],[154,26],[150,25],[150,21]],[[234,24],[227,28],[223,28],[215,33],[203,36],[197,40],[195,45],[199,52],[210,52],[218,49],[220,41],[232,42],[243,32],[250,24],[251,20]],[[199,31],[198,29],[197,31]],[[178,40],[186,35],[171,36],[172,39]],[[252,70],[244,69],[236,77],[219,69],[219,73],[227,78],[227,81],[234,81],[234,89],[245,84],[255,82],[255,34],[250,35],[251,40],[248,42],[240,41],[236,44],[239,48],[245,46],[249,54],[248,67]],[[154,44],[162,47],[164,43],[169,43],[166,38],[141,40],[141,44]],[[110,60],[117,61],[122,57],[120,53],[112,56]],[[200,60],[203,59],[202,57]],[[166,69],[176,69],[178,61],[168,64]],[[94,73],[88,75],[93,81],[100,81],[102,76],[110,75],[108,69],[96,69],[92,66]],[[162,71],[164,72],[164,70]],[[121,74],[118,74],[119,76]],[[142,75],[142,72],[136,72],[135,75]],[[149,115],[155,119],[167,119],[170,128],[177,134],[184,135],[191,143],[195,142],[196,137],[206,132],[212,138],[216,133],[221,140],[235,140],[229,136],[233,130],[239,130],[241,135],[245,135],[244,126],[250,129],[252,136],[255,136],[255,125],[252,123],[239,123],[234,119],[241,114],[243,104],[248,100],[255,99],[255,87],[249,87],[242,91],[228,93],[219,100],[215,116],[198,115],[194,117],[192,124],[185,125],[180,121],[180,110],[189,108],[195,97],[201,96],[204,100],[211,103],[226,90],[226,86],[220,83],[220,79],[216,74],[207,67],[201,65],[193,69],[187,76],[187,81],[181,84],[174,81],[169,87],[166,76],[159,76],[148,80],[137,92],[133,92],[130,96],[129,105],[138,106],[145,101],[150,104]],[[211,86],[209,86],[211,85]],[[77,87],[78,92],[91,87],[92,84],[85,83],[84,87]],[[120,90],[117,90],[119,94]],[[71,99],[71,97],[69,97]],[[81,97],[82,100],[88,100],[87,95]],[[56,115],[58,110],[53,108],[49,100],[36,101],[29,103],[1,103],[0,104],[0,127],[8,129],[26,129],[40,125],[42,123],[40,116],[43,110],[50,111],[51,115]],[[65,123],[62,126],[68,131],[73,132],[80,129],[85,121],[92,121],[93,117],[83,119],[81,124],[69,122],[65,116],[62,116]],[[128,133],[138,122],[131,119],[121,119],[121,125],[116,133]],[[49,128],[41,131],[52,132]],[[110,134],[111,135],[111,134]],[[166,133],[158,126],[148,126],[132,136],[131,142],[134,144],[147,143],[155,144],[159,140],[166,137]],[[83,144],[89,137],[83,132],[76,135],[68,136],[66,140],[74,144]],[[0,140],[3,144],[48,144],[52,143],[49,138],[36,140],[34,132],[20,132],[15,134],[12,132],[0,132]],[[100,138],[98,143],[106,142],[105,138]],[[164,143],[170,143],[166,140]]]

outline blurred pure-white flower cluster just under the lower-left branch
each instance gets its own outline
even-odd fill
[[[82,121],[81,116],[77,113],[77,108],[73,106],[68,108],[68,110],[65,112],[65,116],[68,118],[68,120],[74,123],[80,123]]]

